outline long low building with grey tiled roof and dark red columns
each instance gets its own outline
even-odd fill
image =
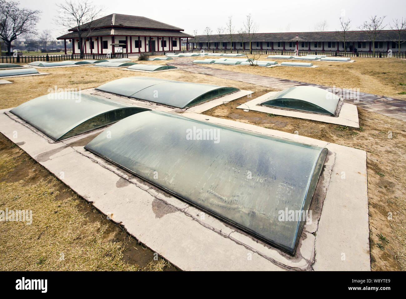
[[[256,33],[251,39],[252,50],[295,50],[296,42],[291,41],[294,37],[300,37],[304,41],[298,42],[300,51],[336,52],[344,51],[342,32],[289,32],[289,33]],[[208,41],[209,43],[208,43]],[[348,31],[346,33],[346,51],[372,52],[375,51],[398,51],[398,44],[394,40],[398,34],[391,30],[382,30],[378,33],[374,45],[365,31]],[[232,42],[231,42],[232,40]],[[406,30],[401,32],[401,41],[406,41]],[[249,50],[248,34],[233,35],[197,35],[188,39],[192,48],[205,50]],[[221,43],[221,44],[220,44]],[[406,43],[401,44],[401,51],[406,51]]]

